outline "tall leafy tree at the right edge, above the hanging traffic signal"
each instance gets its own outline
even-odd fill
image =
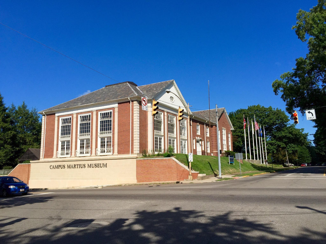
[[[326,147],[326,0],[309,12],[299,10],[297,23],[292,27],[298,38],[308,45],[306,57],[296,59],[296,67],[280,76],[272,84],[275,95],[281,93],[287,110],[315,108],[317,131],[316,150],[325,159]],[[307,39],[308,38],[308,39]]]

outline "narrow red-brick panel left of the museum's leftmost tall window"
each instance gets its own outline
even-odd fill
[[[44,158],[53,157],[55,114],[46,115]],[[42,158],[42,155],[41,155]]]

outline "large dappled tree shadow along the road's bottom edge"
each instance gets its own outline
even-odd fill
[[[24,220],[21,220],[22,224]],[[78,220],[80,223],[89,220]],[[136,211],[130,219],[107,220],[108,225],[93,228],[43,226],[25,235],[4,233],[3,243],[251,243],[251,244],[324,244],[326,233],[303,229],[299,236],[284,235],[270,222],[249,221],[228,212],[207,216],[201,211],[174,208],[166,211]],[[105,221],[105,220],[97,220]],[[41,233],[41,235],[40,235]],[[284,233],[284,232],[283,232]]]

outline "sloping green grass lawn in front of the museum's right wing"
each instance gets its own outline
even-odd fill
[[[179,160],[181,163],[189,167],[187,154],[175,154],[174,157],[177,160]],[[194,171],[199,171],[200,174],[218,175],[218,157],[205,156],[205,155],[193,155],[193,162],[191,162],[191,168]],[[273,169],[274,169],[273,171],[279,171],[279,170],[286,170],[287,168],[284,168],[283,166],[281,167],[274,166]],[[255,173],[253,173],[252,171],[255,171]],[[259,171],[271,172],[272,165],[267,164],[267,168],[266,168],[265,164],[258,165],[258,164],[249,163],[247,161],[244,161],[241,164],[242,175],[249,175],[249,174],[244,174],[245,172],[251,172],[250,174],[254,175],[254,174],[258,174]],[[237,160],[234,160],[234,165],[229,164],[228,157],[221,157],[221,174],[222,175],[240,174],[239,162]]]

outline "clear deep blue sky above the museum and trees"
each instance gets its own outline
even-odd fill
[[[317,0],[4,1],[0,92],[9,106],[37,111],[108,84],[174,79],[197,110],[260,104],[285,110],[272,82],[305,56],[291,29]],[[117,81],[117,82],[116,82]],[[317,114],[318,116],[318,114]],[[300,114],[298,128],[315,132]],[[313,139],[312,136],[309,136]]]

